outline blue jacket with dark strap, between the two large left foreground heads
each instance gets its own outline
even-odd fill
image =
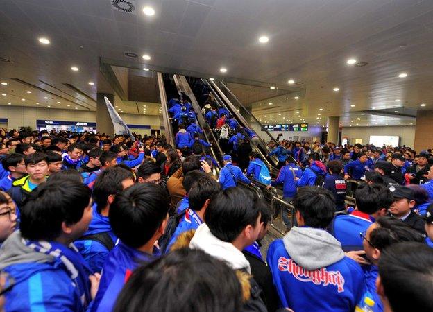
[[[117,236],[112,232],[108,216],[99,214],[96,209],[96,204],[93,205],[92,209],[92,221],[90,221],[89,229],[83,236],[107,232],[110,235],[112,242],[116,243]],[[110,250],[99,241],[90,239],[79,239],[74,242],[74,245],[78,249],[78,252],[83,256],[87,265],[90,266],[94,272],[101,272]]]

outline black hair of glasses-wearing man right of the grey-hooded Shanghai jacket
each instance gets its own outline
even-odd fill
[[[389,245],[402,241],[417,241],[423,243],[424,236],[401,220],[383,216],[376,220],[378,227],[370,233],[370,243],[378,250],[384,250]]]

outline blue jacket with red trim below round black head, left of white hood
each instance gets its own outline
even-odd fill
[[[117,296],[133,270],[140,264],[151,260],[153,260],[151,254],[139,252],[119,241],[119,244],[110,251],[105,261],[101,283],[91,311],[112,311]]]

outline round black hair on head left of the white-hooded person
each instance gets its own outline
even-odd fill
[[[169,195],[153,183],[139,183],[119,193],[108,218],[114,234],[131,248],[146,244],[169,211]]]

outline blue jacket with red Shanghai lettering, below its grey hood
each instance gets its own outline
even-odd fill
[[[364,282],[359,265],[343,255],[341,260],[328,266],[306,270],[287,252],[283,243],[287,237],[288,234],[283,239],[273,241],[267,254],[280,305],[294,311],[354,311]],[[312,252],[305,250],[303,257],[307,257],[307,254]]]

